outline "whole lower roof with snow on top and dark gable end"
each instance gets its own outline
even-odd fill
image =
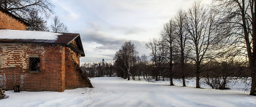
[[[76,42],[77,46],[71,42]],[[79,33],[52,33],[46,31],[0,30],[0,43],[57,44],[70,47],[83,57],[83,44]]]

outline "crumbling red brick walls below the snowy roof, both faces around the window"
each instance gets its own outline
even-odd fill
[[[29,71],[29,57],[38,56],[40,71]],[[0,86],[13,90],[59,91],[92,87],[78,70],[80,54],[53,44],[0,44]],[[86,78],[86,79],[85,79]]]

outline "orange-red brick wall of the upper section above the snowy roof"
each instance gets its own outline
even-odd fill
[[[0,10],[0,29],[1,28],[26,31],[26,25],[24,23]]]

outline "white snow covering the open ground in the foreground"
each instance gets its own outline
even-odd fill
[[[12,106],[256,106],[256,96],[225,90],[169,86],[163,83],[127,81],[119,77],[91,79],[95,88],[64,92],[13,92],[0,100],[1,107]]]

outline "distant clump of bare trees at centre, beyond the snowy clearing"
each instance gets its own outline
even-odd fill
[[[138,56],[132,41],[126,41],[113,58],[113,70],[116,76],[124,79],[129,80],[132,77],[133,80],[140,80],[141,76],[146,79],[152,73],[151,64],[147,59],[146,55]]]

